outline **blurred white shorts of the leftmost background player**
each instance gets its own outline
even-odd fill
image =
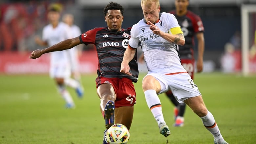
[[[71,68],[68,64],[59,64],[50,66],[51,78],[68,78],[71,76]]]

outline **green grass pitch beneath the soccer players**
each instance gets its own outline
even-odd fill
[[[166,144],[148,109],[140,75],[129,144]],[[48,75],[0,75],[0,144],[101,144],[104,119],[99,111],[96,75],[84,75],[85,96],[69,89],[76,109],[65,109]],[[256,77],[197,74],[195,83],[229,144],[256,143]],[[213,144],[213,136],[187,107],[184,127],[172,127],[173,105],[159,95],[170,126],[169,144]]]

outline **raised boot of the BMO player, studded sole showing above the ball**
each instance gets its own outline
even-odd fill
[[[107,102],[104,109],[104,118],[105,118],[107,129],[114,124],[114,111],[115,111],[115,103],[110,100]]]

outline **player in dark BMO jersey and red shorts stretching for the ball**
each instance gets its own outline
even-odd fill
[[[136,103],[133,82],[137,82],[139,73],[137,53],[129,63],[132,75],[121,73],[121,62],[124,51],[128,47],[131,28],[121,28],[124,9],[120,4],[110,2],[103,12],[107,27],[94,28],[78,37],[64,40],[42,50],[35,50],[29,58],[36,59],[44,53],[71,49],[82,43],[94,44],[98,55],[96,88],[105,126],[108,129],[115,122],[130,129]],[[107,144],[105,132],[103,144]]]

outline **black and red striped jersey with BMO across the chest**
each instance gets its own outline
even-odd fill
[[[94,28],[80,35],[81,43],[94,44],[97,50],[99,67],[98,76],[107,78],[129,78],[133,82],[138,80],[137,52],[129,63],[133,74],[128,76],[120,72],[124,51],[128,47],[131,28],[119,32],[109,31],[107,27]]]

